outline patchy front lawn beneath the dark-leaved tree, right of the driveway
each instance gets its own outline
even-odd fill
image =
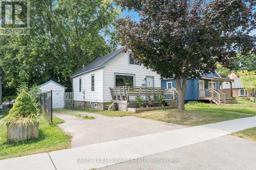
[[[225,120],[250,117],[256,114],[256,106],[199,104],[185,105],[185,108],[185,111],[169,109],[132,113],[66,107],[66,109],[69,110],[86,111],[106,116],[136,116],[184,126],[199,126]]]

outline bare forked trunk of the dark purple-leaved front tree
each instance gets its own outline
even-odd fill
[[[181,79],[175,79],[175,81],[176,81],[176,85],[177,85],[176,88],[179,95],[178,109],[185,110],[184,100],[185,100],[185,90],[186,90],[187,79],[186,78],[182,79],[182,85],[180,83]]]

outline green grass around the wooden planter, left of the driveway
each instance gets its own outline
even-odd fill
[[[3,112],[0,112],[0,114],[3,114]],[[7,114],[7,112],[4,114]],[[38,139],[28,139],[13,143],[6,142],[6,127],[0,127],[0,159],[71,148],[71,136],[57,126],[57,124],[63,122],[65,121],[53,116],[53,123],[50,124],[47,119],[41,117]]]

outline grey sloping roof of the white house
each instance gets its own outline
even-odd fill
[[[110,62],[112,59],[114,59],[118,54],[120,54],[123,51],[123,47],[119,48],[118,50],[111,52],[105,56],[102,56],[100,58],[97,58],[96,60],[94,60],[93,62],[91,62],[90,64],[86,65],[83,68],[81,68],[80,70],[78,70],[74,75],[71,76],[75,77],[77,75],[80,75],[84,72],[88,72],[92,69],[99,69],[99,68],[103,68],[105,66],[106,63]]]

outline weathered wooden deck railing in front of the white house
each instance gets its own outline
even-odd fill
[[[147,99],[151,99],[154,95],[172,95],[177,98],[176,89],[164,89],[160,87],[133,87],[133,86],[121,86],[110,87],[112,100],[129,101],[130,96],[146,96]]]

